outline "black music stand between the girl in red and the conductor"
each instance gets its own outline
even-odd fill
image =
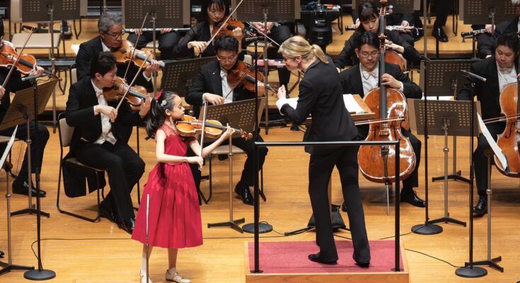
[[[263,104],[265,104],[265,97],[259,99],[257,117],[255,118],[255,99],[241,100],[233,103],[226,103],[221,105],[211,105],[207,107],[207,120],[217,120],[222,125],[229,124],[233,128],[243,129],[245,132],[255,131],[255,120],[258,116],[262,115]],[[201,116],[204,110],[201,110]],[[234,137],[238,137],[238,134],[233,134]],[[233,220],[233,136],[229,137],[229,221],[220,223],[208,223],[207,228],[212,227],[231,227],[240,233],[244,230],[238,226],[245,222],[245,219],[241,218]],[[254,136],[256,137],[256,136]],[[265,227],[266,232],[272,231],[272,227]],[[267,229],[270,228],[270,229]]]

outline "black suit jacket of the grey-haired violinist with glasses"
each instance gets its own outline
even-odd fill
[[[85,77],[90,78],[91,59],[93,57],[98,56],[100,52],[103,52],[103,45],[101,45],[100,36],[96,36],[93,39],[88,40],[87,42],[83,42],[81,43],[81,45],[79,45],[79,51],[76,55],[76,74],[78,76],[78,81]],[[130,66],[130,69],[128,70],[127,74],[128,83],[130,83],[132,79],[134,79],[134,76],[137,74],[137,71],[139,70],[139,67],[136,66],[134,63],[131,62],[130,64],[132,64],[132,66]],[[125,76],[126,70],[126,64],[117,64],[117,76]],[[149,93],[154,91],[154,85],[151,83],[151,80],[147,81],[146,79],[144,79],[144,76],[142,74],[139,74],[139,76],[137,76],[135,84],[137,86],[144,86]]]

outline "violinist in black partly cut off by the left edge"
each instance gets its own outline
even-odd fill
[[[3,39],[4,38],[4,22],[0,21],[0,51],[4,53],[4,47],[10,47],[10,49],[14,50],[11,42],[8,42]],[[16,55],[15,55],[16,56]],[[44,73],[44,69],[35,65],[33,70],[28,73],[28,76],[37,76]],[[7,74],[9,69],[7,67],[0,67],[0,83],[3,84],[7,78]],[[0,84],[0,86],[1,86]],[[4,119],[6,112],[11,105],[11,93],[16,93],[17,91],[21,91],[25,88],[31,88],[33,85],[30,81],[22,81],[22,74],[18,69],[14,70],[9,77],[8,82],[5,84],[5,88],[0,89],[0,120]],[[14,132],[14,127],[8,129],[2,129],[0,131],[0,135],[11,137]],[[18,139],[27,139],[27,124],[23,123],[18,125],[18,131],[16,132],[16,137]],[[47,140],[49,139],[49,130],[44,125],[38,123],[35,124],[34,121],[30,122],[30,139],[33,140],[33,146],[30,147],[30,156],[31,156],[31,172],[35,173],[36,168],[42,168],[43,154],[45,151],[45,145],[47,144]],[[0,144],[0,152],[4,152],[6,148],[6,144]],[[18,176],[15,180],[13,180],[13,193],[28,195],[29,188],[31,190],[31,194],[33,197],[36,197],[37,190],[33,186],[33,184],[28,183],[28,153],[25,152],[25,156],[23,158],[23,163],[20,166],[20,171],[18,172]],[[40,197],[45,197],[45,190],[40,189]]]

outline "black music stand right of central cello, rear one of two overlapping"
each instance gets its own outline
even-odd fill
[[[427,96],[448,96],[453,95],[456,99],[458,91],[462,89],[464,83],[468,81],[459,70],[470,69],[471,65],[480,59],[455,59],[455,60],[430,60],[427,63],[427,77],[424,76],[424,62],[421,62],[420,87]],[[430,100],[431,101],[431,100]],[[457,138],[453,135],[453,172],[448,175],[449,180],[458,180],[469,183],[468,178],[457,171]],[[444,176],[433,177],[432,181],[444,180]]]

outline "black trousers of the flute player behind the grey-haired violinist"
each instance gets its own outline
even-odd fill
[[[180,40],[180,35],[172,31],[171,33],[163,33],[157,31],[156,38],[159,42],[159,51],[161,51],[161,59],[169,60],[174,59],[173,57],[173,48]],[[137,40],[137,35],[135,33],[130,33],[127,38],[130,42],[135,43]],[[139,42],[137,42],[137,48],[141,49],[151,42],[154,39],[154,35],[151,32],[144,32],[139,36]]]

